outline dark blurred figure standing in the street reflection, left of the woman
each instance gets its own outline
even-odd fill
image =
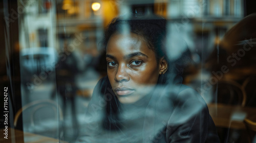
[[[79,132],[78,121],[76,117],[76,104],[75,104],[75,96],[77,91],[77,85],[75,81],[75,77],[79,73],[78,68],[78,60],[75,57],[75,53],[69,51],[68,42],[65,41],[63,45],[63,53],[59,55],[58,62],[56,64],[56,90],[59,94],[59,97],[62,101],[62,110],[64,123],[62,123],[63,127],[63,139],[77,137]],[[53,91],[53,96],[56,91]],[[52,97],[53,97],[52,96]],[[69,105],[70,104],[70,105]],[[72,119],[72,127],[67,127],[66,123],[70,123],[68,121],[68,106],[71,106],[71,119]],[[73,131],[71,135],[68,135],[68,131]],[[69,136],[69,137],[68,137]]]

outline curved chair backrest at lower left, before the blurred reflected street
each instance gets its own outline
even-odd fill
[[[63,122],[63,114],[56,102],[38,100],[23,106],[14,117],[14,127],[17,126],[19,118],[22,118],[21,114],[25,132],[58,137],[59,133],[56,131],[59,131],[59,123]]]

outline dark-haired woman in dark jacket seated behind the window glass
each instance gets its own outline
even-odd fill
[[[166,19],[114,18],[105,31],[107,76],[94,88],[78,142],[219,142],[202,97],[166,56]],[[178,47],[178,46],[177,46]]]

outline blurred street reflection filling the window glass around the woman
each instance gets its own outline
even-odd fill
[[[0,3],[4,11],[1,15],[5,39],[2,55],[7,59],[1,62],[6,67],[1,72],[20,74],[15,78],[2,74],[3,84],[8,80],[10,85],[15,84],[13,93],[16,86],[20,87],[16,96],[20,96],[21,101],[10,96],[11,125],[16,117],[16,125],[23,125],[24,132],[79,141],[88,126],[86,111],[92,103],[93,90],[98,81],[108,75],[106,45],[102,44],[104,31],[115,17],[127,20],[133,13],[137,18],[152,19],[156,14],[166,19],[165,54],[172,62],[179,63],[182,84],[196,90],[207,103],[220,140],[243,142],[250,138],[252,141],[254,124],[250,123],[256,122],[253,48],[241,56],[243,46],[248,42],[253,45],[255,40],[255,28],[250,26],[254,20],[245,18],[252,7],[247,1],[22,0]],[[12,29],[14,24],[16,29]],[[239,29],[240,26],[245,28]],[[124,33],[131,32],[127,25],[121,25],[121,29]],[[13,34],[14,30],[18,31],[17,35]],[[15,63],[14,59],[19,61]],[[15,103],[21,104],[20,107],[15,107]],[[92,122],[90,127],[94,126],[96,128]],[[30,138],[24,136],[24,139],[26,142]]]

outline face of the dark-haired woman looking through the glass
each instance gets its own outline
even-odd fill
[[[115,33],[106,45],[108,77],[121,103],[134,103],[157,84],[161,64],[140,36]]]

